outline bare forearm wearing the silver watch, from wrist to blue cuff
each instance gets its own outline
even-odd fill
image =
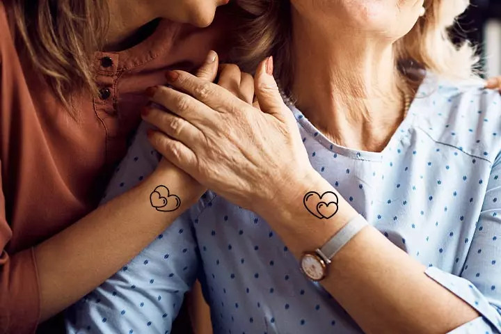
[[[324,245],[357,214],[337,193],[337,213],[319,219],[303,205],[309,191],[336,193],[315,173],[296,185],[295,198],[285,201],[278,212],[264,213],[298,258]],[[479,316],[431,280],[425,269],[378,230],[367,227],[335,255],[321,283],[366,333],[447,333]]]

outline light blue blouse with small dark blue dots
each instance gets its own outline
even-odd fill
[[[370,224],[429,267],[430,278],[479,312],[451,333],[501,333],[499,93],[429,74],[380,153],[340,147],[299,110],[292,112],[312,166]],[[157,166],[146,127],[138,129],[105,200]],[[266,221],[212,191],[74,305],[67,328],[170,333],[196,278],[211,306],[214,333],[361,333],[321,286],[303,276]]]

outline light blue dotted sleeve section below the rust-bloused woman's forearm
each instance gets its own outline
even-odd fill
[[[68,333],[169,333],[197,269],[197,244],[186,212],[68,310]]]

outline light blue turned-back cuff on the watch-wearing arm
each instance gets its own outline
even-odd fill
[[[446,273],[436,267],[429,267],[424,273],[429,278],[435,280],[450,292],[458,296],[460,299],[468,303],[472,308],[475,308],[482,317],[478,317],[468,323],[454,329],[450,333],[495,333],[501,334],[501,315],[491,305],[486,297],[470,283],[470,281],[459,276]]]

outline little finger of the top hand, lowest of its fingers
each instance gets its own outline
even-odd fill
[[[148,141],[165,159],[186,173],[190,174],[196,166],[195,153],[180,141],[152,129],[148,130]]]

